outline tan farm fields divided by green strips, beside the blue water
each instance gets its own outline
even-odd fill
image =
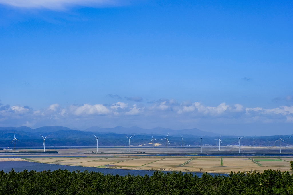
[[[136,170],[176,170],[213,173],[230,171],[263,172],[266,169],[289,171],[292,157],[221,157],[221,156],[130,156],[130,157],[76,157],[76,158],[26,158],[39,163],[60,165],[120,168]]]

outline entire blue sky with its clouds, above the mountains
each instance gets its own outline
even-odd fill
[[[0,0],[0,126],[290,134],[292,9]]]

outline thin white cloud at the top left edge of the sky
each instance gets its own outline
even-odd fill
[[[117,6],[124,4],[121,0],[0,0],[0,4],[6,4],[21,8],[47,8],[64,9],[69,6]]]

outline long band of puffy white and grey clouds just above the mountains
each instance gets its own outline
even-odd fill
[[[9,105],[0,107],[0,126],[29,126],[45,125],[60,126],[93,126],[103,124],[113,126],[128,124],[142,126],[147,123],[194,126],[203,121],[214,124],[285,124],[293,123],[293,106],[278,108],[245,108],[240,104],[233,106],[221,103],[217,107],[205,106],[200,102],[178,103],[174,99],[160,99],[150,106],[117,102],[113,105],[84,104],[70,105],[62,108],[59,104],[52,104],[47,108],[34,110],[28,106]],[[144,123],[144,124],[143,124]],[[153,126],[156,127],[156,126]]]

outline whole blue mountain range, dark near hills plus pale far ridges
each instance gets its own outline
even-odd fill
[[[146,146],[151,146],[149,141],[151,141],[151,134],[153,134],[157,144],[165,146],[165,140],[160,140],[166,138],[167,133],[170,132],[168,140],[170,141],[170,146],[181,146],[182,139],[180,134],[184,138],[185,146],[199,146],[200,139],[197,136],[205,137],[202,139],[203,145],[214,145],[218,146],[218,139],[220,134],[215,134],[211,132],[204,132],[198,129],[191,130],[171,130],[164,129],[161,127],[156,127],[154,129],[142,129],[139,127],[115,127],[115,128],[100,128],[100,127],[90,127],[83,131],[77,129],[69,129],[67,127],[59,126],[46,126],[40,127],[37,129],[31,129],[29,127],[0,127],[0,147],[12,147],[14,144],[10,143],[13,140],[13,133],[15,133],[17,141],[17,146],[19,147],[28,147],[28,146],[38,146],[43,145],[43,139],[40,136],[49,137],[46,139],[46,146],[95,146],[96,138],[93,136],[95,134],[98,139],[99,146],[127,146],[128,139],[124,135],[134,137],[131,139],[131,145],[140,146],[147,144]],[[282,136],[281,138],[286,140],[285,137],[290,135]],[[253,137],[245,137],[241,139],[241,145],[252,145]],[[255,146],[272,146],[278,145],[274,143],[279,139],[279,135],[274,136],[262,136],[255,137]],[[226,145],[237,145],[238,138],[231,135],[222,135],[221,141],[222,146]],[[287,140],[286,140],[287,141]],[[289,139],[289,144],[291,140]],[[293,140],[292,140],[293,143]],[[281,142],[283,146],[286,146],[287,143]]]

